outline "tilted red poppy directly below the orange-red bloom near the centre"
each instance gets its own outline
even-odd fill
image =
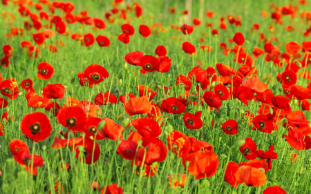
[[[133,119],[131,124],[136,130],[138,130],[138,133],[140,133],[142,137],[158,137],[162,133],[158,122],[153,119],[149,119],[148,117]]]

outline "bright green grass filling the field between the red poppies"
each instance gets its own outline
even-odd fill
[[[126,1],[126,0],[124,0]],[[0,73],[3,79],[14,77],[18,83],[23,79],[30,78],[34,81],[34,88],[39,95],[40,89],[46,84],[62,83],[66,88],[65,97],[73,97],[79,100],[93,101],[95,95],[103,91],[119,97],[126,93],[133,93],[138,95],[135,86],[144,84],[151,89],[156,90],[156,85],[167,86],[171,85],[173,90],[169,93],[169,97],[181,95],[185,90],[176,86],[176,77],[178,75],[186,75],[197,65],[196,61],[202,62],[202,68],[206,69],[209,66],[216,67],[216,63],[223,63],[237,69],[238,64],[234,60],[234,54],[229,53],[227,57],[220,51],[219,43],[227,43],[229,48],[233,48],[234,43],[228,43],[235,32],[242,32],[245,37],[245,52],[251,54],[254,46],[263,48],[263,42],[258,41],[258,32],[263,32],[266,37],[277,37],[278,41],[274,41],[274,46],[280,46],[280,51],[285,52],[285,43],[289,41],[296,41],[301,44],[302,41],[307,41],[308,37],[303,37],[299,29],[304,31],[309,28],[310,22],[302,23],[299,18],[299,13],[303,10],[308,10],[308,6],[299,5],[297,16],[294,19],[290,17],[283,17],[283,26],[271,23],[271,19],[261,17],[261,10],[271,12],[269,3],[267,1],[226,1],[220,3],[219,1],[203,1],[204,6],[200,6],[199,1],[193,1],[191,17],[200,18],[200,9],[203,7],[203,17],[200,26],[195,27],[194,32],[189,35],[183,35],[180,30],[171,29],[171,24],[175,26],[182,26],[185,23],[186,17],[182,16],[182,10],[185,10],[184,1],[169,1],[169,7],[176,8],[176,14],[170,14],[165,9],[164,1],[140,1],[143,8],[143,14],[140,18],[135,18],[133,13],[128,14],[131,25],[135,28],[135,35],[131,37],[129,44],[124,44],[117,40],[117,36],[121,34],[120,26],[123,23],[128,23],[122,19],[115,17],[115,23],[111,24],[106,19],[105,30],[93,30],[91,26],[82,26],[79,23],[74,23],[68,26],[67,31],[71,33],[79,32],[81,34],[92,32],[96,37],[97,35],[105,35],[111,39],[111,45],[108,48],[100,48],[95,42],[93,46],[84,47],[77,41],[73,41],[70,37],[59,35],[56,33],[55,37],[46,39],[45,43],[55,44],[55,41],[62,39],[66,45],[64,48],[57,46],[58,51],[55,53],[48,52],[47,48],[40,48],[42,55],[39,59],[32,59],[28,57],[26,51],[22,50],[20,42],[28,40],[35,45],[32,40],[32,33],[36,30],[32,29],[29,32],[24,31],[23,37],[13,37],[6,39],[5,34],[10,32],[10,27],[23,28],[23,21],[26,17],[21,17],[17,12],[17,6],[10,3],[8,6],[1,6],[0,12],[9,11],[15,15],[16,19],[12,21],[10,26],[3,17],[0,17],[0,23],[3,26],[0,29],[1,45],[10,44],[13,51],[13,57],[10,58],[9,68],[1,68]],[[276,6],[288,6],[293,1],[273,1]],[[111,1],[75,1],[77,14],[79,11],[88,10],[91,17],[99,17],[104,19],[104,13],[109,12],[113,8]],[[132,5],[132,1],[131,4]],[[125,8],[125,4],[121,5]],[[38,13],[34,8],[33,12]],[[214,17],[209,19],[205,17],[205,12],[208,10],[214,11]],[[61,14],[56,10],[55,15]],[[227,14],[232,14],[234,17],[237,15],[242,16],[242,26],[235,27],[227,22]],[[269,15],[269,14],[268,14]],[[269,15],[270,16],[270,15]],[[227,22],[227,30],[219,29],[220,17],[225,17]],[[153,23],[162,23],[164,32],[156,28],[152,31],[152,35],[144,39],[138,32],[141,23],[148,26]],[[206,23],[213,23],[213,28],[218,29],[219,36],[211,35],[210,28],[205,27]],[[251,33],[249,30],[252,28],[253,23],[259,23],[261,28],[258,32]],[[191,23],[188,23],[191,24]],[[286,32],[284,26],[292,25],[296,30],[294,32]],[[276,26],[276,33],[269,32],[269,26]],[[157,33],[158,32],[158,33]],[[180,41],[174,40],[173,37],[181,39]],[[205,42],[199,41],[200,37],[204,37]],[[190,41],[196,46],[196,55],[188,55],[181,50],[182,42]],[[209,45],[213,49],[212,52],[202,51],[200,45]],[[138,66],[127,65],[124,61],[124,56],[128,52],[140,50],[144,55],[155,55],[154,50],[158,45],[164,45],[167,48],[167,56],[171,58],[171,69],[167,73],[151,72],[147,75],[140,74]],[[55,68],[55,75],[48,80],[40,80],[36,78],[37,65],[41,61],[46,61],[53,65]],[[83,72],[84,69],[91,64],[100,64],[104,66],[109,72],[109,78],[104,80],[101,84],[87,88],[79,85],[77,73]],[[278,72],[285,70],[285,65],[282,68],[276,68],[272,62],[265,62],[263,55],[254,60],[254,66],[258,70],[258,77],[266,82],[264,77],[271,75],[272,80],[267,85],[275,95],[283,95],[281,84],[276,81]],[[299,70],[300,72],[301,70]],[[134,74],[136,76],[134,76]],[[309,81],[299,77],[297,84],[306,87]],[[194,88],[192,88],[194,89]],[[157,90],[158,95],[153,99],[154,102],[161,104],[164,99],[164,90]],[[192,90],[194,91],[194,90]],[[202,95],[204,91],[200,91]],[[281,126],[279,130],[271,134],[263,134],[258,130],[251,130],[252,127],[247,126],[246,122],[240,119],[245,110],[249,110],[256,116],[258,101],[249,101],[249,106],[243,106],[243,103],[238,99],[229,99],[223,101],[220,111],[208,110],[207,106],[188,106],[185,112],[195,113],[197,110],[202,110],[201,119],[203,127],[198,130],[190,130],[185,127],[182,121],[182,115],[172,115],[163,113],[164,125],[162,126],[162,134],[160,139],[167,144],[167,135],[173,130],[179,130],[188,136],[193,136],[196,139],[204,140],[214,146],[214,153],[218,155],[219,166],[216,175],[208,178],[195,180],[193,175],[189,175],[184,188],[173,188],[169,186],[168,175],[173,173],[187,173],[187,170],[182,166],[182,159],[176,157],[175,154],[168,151],[167,158],[164,162],[158,162],[158,173],[153,177],[142,177],[135,173],[135,168],[132,168],[131,161],[123,159],[120,155],[116,154],[117,144],[112,140],[101,140],[97,143],[100,145],[101,154],[100,159],[94,164],[84,164],[75,158],[70,148],[51,148],[55,136],[59,136],[59,132],[66,131],[66,128],[57,122],[57,118],[53,114],[46,112],[44,109],[34,109],[27,106],[27,101],[24,95],[25,90],[19,87],[19,97],[15,100],[8,99],[9,105],[7,108],[0,110],[0,113],[10,113],[16,121],[3,122],[5,128],[5,135],[0,137],[0,193],[51,193],[54,191],[54,183],[59,182],[64,186],[66,193],[100,193],[91,188],[91,182],[98,182],[100,189],[102,186],[109,184],[117,184],[123,188],[124,193],[262,193],[267,186],[278,185],[284,188],[287,193],[310,193],[310,165],[311,155],[309,151],[296,151],[285,142],[282,135],[288,135],[287,129]],[[1,97],[3,97],[1,95]],[[56,99],[61,106],[66,103],[66,98]],[[292,110],[301,110],[301,107],[296,106],[293,102],[290,103]],[[109,104],[100,106],[102,110],[102,117],[113,119],[117,124],[126,122],[126,115],[124,106],[117,102],[117,104]],[[53,127],[53,132],[44,142],[34,143],[27,139],[21,133],[21,119],[28,113],[41,111],[46,113],[50,119]],[[310,111],[303,111],[305,117],[310,121]],[[122,114],[121,117],[118,117]],[[132,119],[144,117],[144,115],[135,115]],[[212,119],[215,119],[216,124],[211,126]],[[238,134],[227,135],[221,130],[221,123],[227,119],[236,119],[238,122]],[[284,122],[282,119],[281,122]],[[126,128],[123,132],[123,137],[126,139],[133,127]],[[224,181],[225,168],[230,161],[245,162],[246,159],[238,150],[241,146],[241,141],[246,137],[252,137],[256,142],[258,149],[267,151],[272,144],[275,146],[274,152],[279,154],[277,159],[272,159],[272,170],[267,171],[267,182],[261,187],[251,187],[240,184],[238,188],[234,188]],[[44,166],[38,167],[37,175],[32,176],[25,171],[13,159],[12,153],[8,144],[11,139],[21,139],[26,142],[30,148],[30,153],[41,155],[44,159]],[[298,158],[296,162],[289,159],[290,153],[297,153]],[[70,168],[64,170],[61,165],[69,164]]]

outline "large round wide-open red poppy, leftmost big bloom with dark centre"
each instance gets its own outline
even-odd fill
[[[44,113],[30,113],[21,119],[21,132],[32,141],[44,141],[50,136],[52,126]]]

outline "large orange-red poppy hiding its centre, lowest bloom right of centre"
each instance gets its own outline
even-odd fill
[[[211,177],[216,174],[219,166],[218,155],[214,151],[197,151],[189,159],[188,172],[194,175],[196,180]],[[186,168],[186,166],[184,166]]]

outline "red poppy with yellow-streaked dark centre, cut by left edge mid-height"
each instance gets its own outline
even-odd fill
[[[0,91],[3,96],[16,99],[19,95],[19,87],[14,78],[9,78],[0,82]]]

